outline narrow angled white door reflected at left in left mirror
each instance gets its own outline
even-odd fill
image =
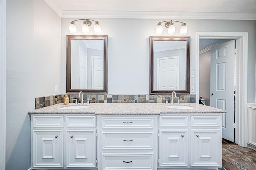
[[[79,55],[79,86],[81,89],[87,89],[87,54],[80,48]]]

